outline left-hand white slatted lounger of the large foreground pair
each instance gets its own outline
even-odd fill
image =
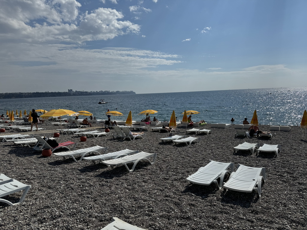
[[[230,168],[230,172],[227,169]],[[198,171],[191,176],[186,178],[187,181],[199,184],[199,185],[210,185],[216,184],[218,189],[223,186],[224,176],[230,175],[233,172],[233,163],[223,163],[217,161],[210,161],[206,166],[200,167]],[[220,178],[220,182],[217,179]]]

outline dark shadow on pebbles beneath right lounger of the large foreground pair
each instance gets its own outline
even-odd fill
[[[251,204],[256,203],[258,199],[255,191],[244,193],[223,189],[221,202],[241,206],[242,208],[250,208]]]

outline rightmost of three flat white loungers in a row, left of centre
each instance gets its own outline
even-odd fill
[[[153,161],[151,162],[149,158],[153,157]],[[124,165],[126,167],[126,169],[128,170],[128,172],[133,172],[135,166],[141,161],[141,160],[147,160],[150,165],[153,165],[156,161],[156,157],[157,157],[157,153],[147,153],[147,152],[138,152],[136,154],[133,155],[128,155],[128,156],[124,156],[121,158],[117,158],[117,159],[112,159],[112,160],[106,160],[106,161],[102,161],[101,163],[106,164],[108,167],[116,167],[119,165]],[[129,169],[128,165],[129,163],[133,163],[133,166],[131,168],[131,170]]]

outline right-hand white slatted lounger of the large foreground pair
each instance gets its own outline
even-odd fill
[[[262,176],[260,174],[262,173]],[[238,192],[251,193],[256,191],[257,197],[261,196],[261,182],[266,181],[266,168],[253,168],[238,164],[238,169],[232,172],[223,188]]]

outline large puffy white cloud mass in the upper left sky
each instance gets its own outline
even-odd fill
[[[80,6],[75,0],[3,0],[0,40],[81,43],[112,39],[140,30],[137,24],[120,21],[124,16],[115,9],[98,8],[80,14]]]

